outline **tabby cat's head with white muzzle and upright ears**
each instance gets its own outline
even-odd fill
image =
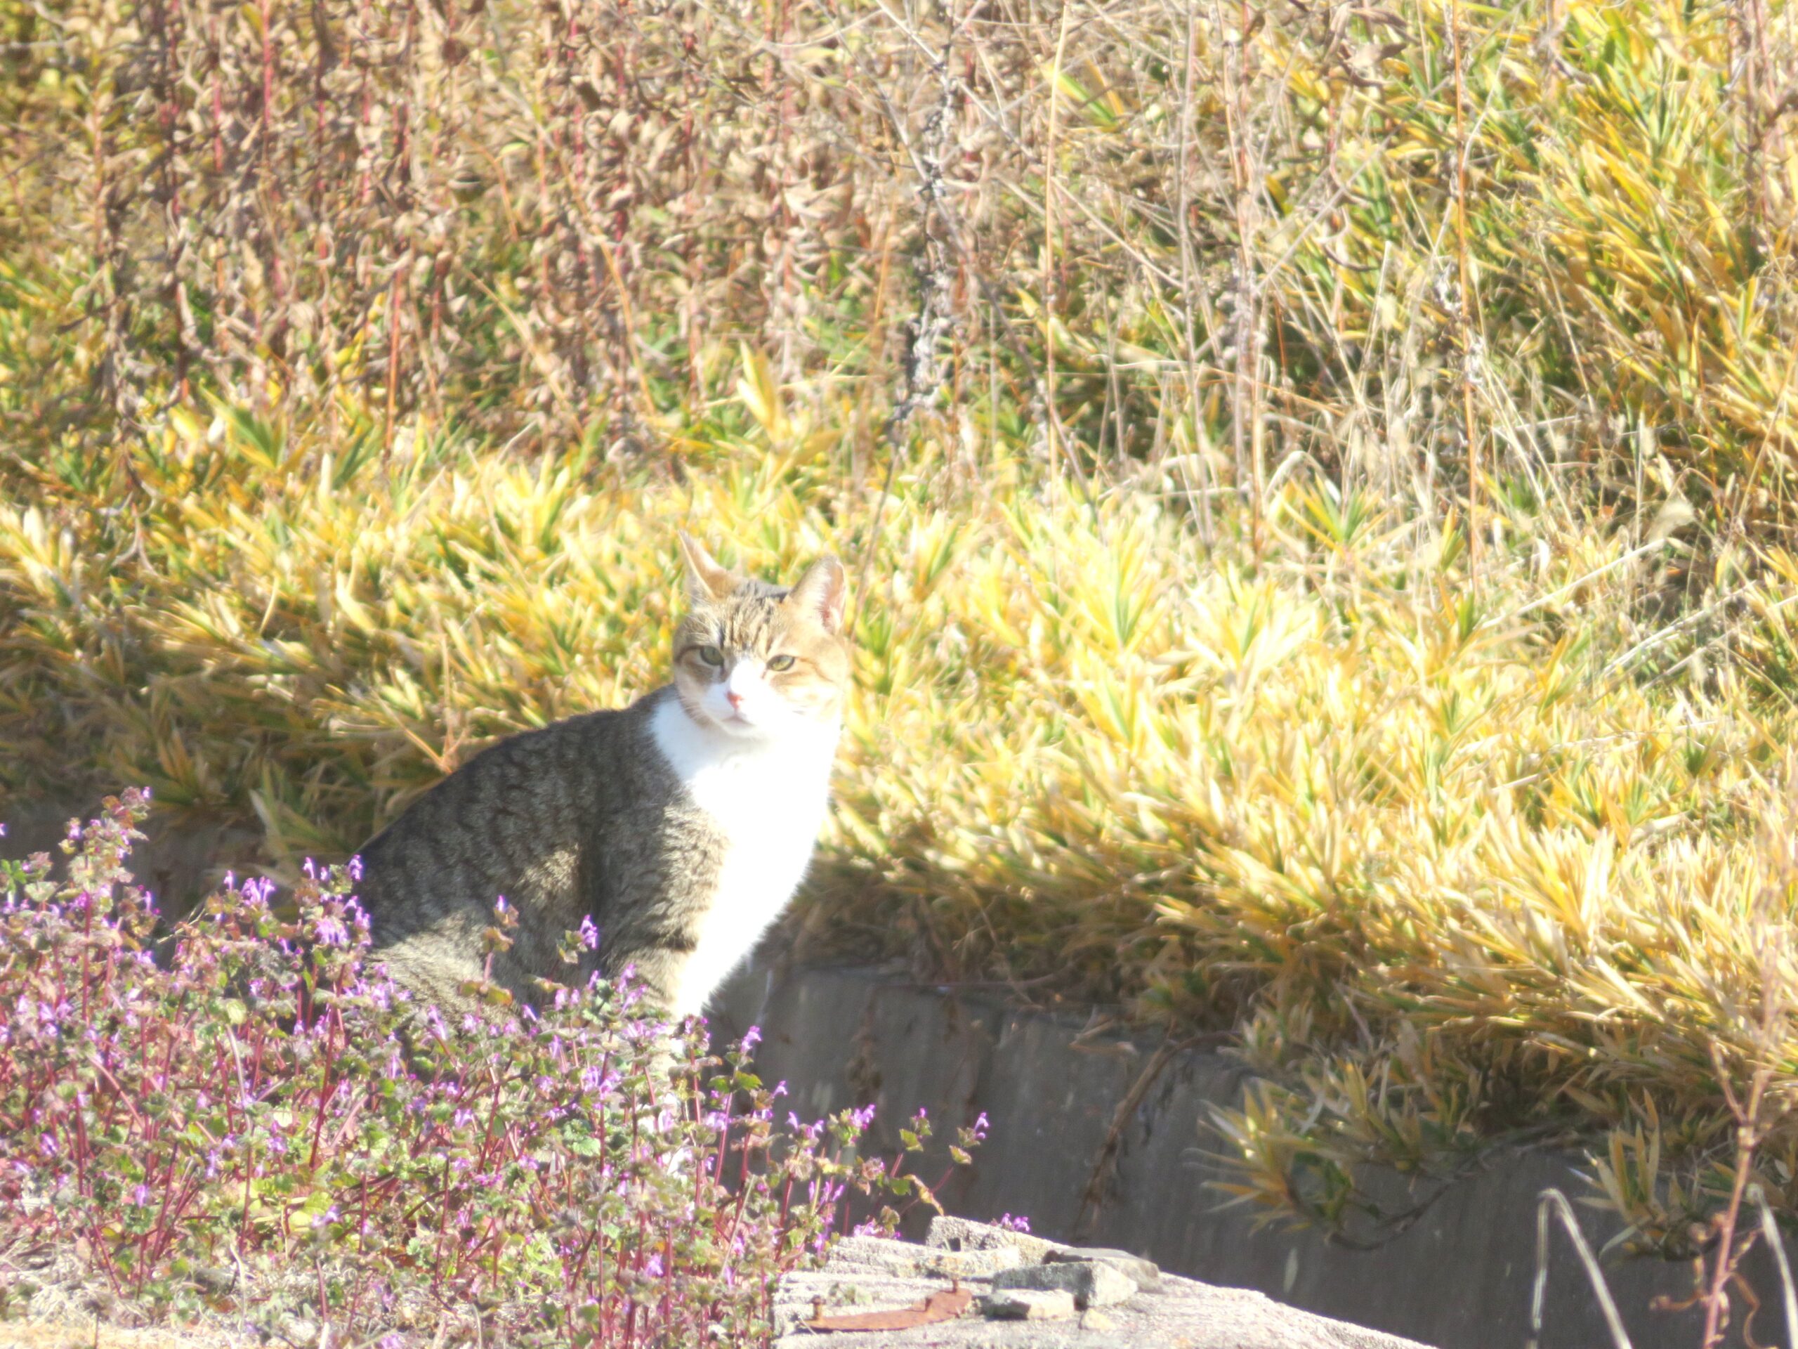
[[[849,692],[843,565],[814,561],[791,586],[726,572],[687,534],[687,617],[674,689],[699,725],[746,739],[834,732]]]

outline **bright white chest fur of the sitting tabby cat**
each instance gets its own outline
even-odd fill
[[[728,840],[699,946],[681,969],[672,1011],[699,1013],[793,898],[823,824],[838,725],[786,723],[775,736],[701,727],[680,698],[649,723],[694,804]]]

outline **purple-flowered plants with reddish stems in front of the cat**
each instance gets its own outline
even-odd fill
[[[76,822],[67,880],[9,869],[5,1315],[387,1349],[764,1344],[775,1279],[845,1194],[919,1194],[856,1158],[867,1113],[777,1137],[780,1088],[703,1029],[671,1041],[628,984],[541,1016],[414,1005],[365,959],[352,872],[277,903],[227,885],[158,932],[126,869],[144,809]]]

